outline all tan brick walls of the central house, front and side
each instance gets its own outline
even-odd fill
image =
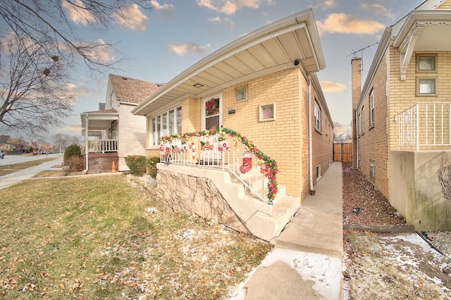
[[[247,85],[247,100],[235,101],[235,89]],[[319,98],[312,85],[312,99]],[[182,101],[183,132],[201,130],[202,99],[184,99]],[[259,121],[259,106],[275,104],[276,120]],[[309,135],[308,125],[308,85],[298,68],[259,77],[223,89],[223,127],[240,132],[254,142],[278,163],[278,182],[287,187],[287,193],[304,199],[309,192]],[[312,101],[313,113],[314,101]],[[234,114],[228,114],[227,108],[235,107]],[[321,103],[320,103],[321,106]],[[321,106],[321,110],[325,108]],[[326,113],[322,113],[321,127],[326,122],[332,125]],[[312,122],[313,124],[313,122]],[[321,163],[321,173],[326,172],[328,162],[333,158],[333,130],[325,129],[321,134],[314,129],[313,149],[315,172]],[[330,137],[330,141],[329,141]],[[147,156],[158,156],[158,150],[147,150]]]

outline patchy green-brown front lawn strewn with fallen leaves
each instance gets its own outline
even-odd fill
[[[123,175],[0,192],[1,299],[228,299],[271,249]]]

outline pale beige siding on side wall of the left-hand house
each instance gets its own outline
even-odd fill
[[[118,156],[120,171],[129,170],[125,156],[146,155],[146,118],[130,113],[135,106],[120,104],[118,126]]]

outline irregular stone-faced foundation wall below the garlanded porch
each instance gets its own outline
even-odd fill
[[[238,232],[250,233],[242,220],[230,208],[214,182],[208,178],[159,169],[156,182],[157,196],[166,200],[173,211],[193,213]]]

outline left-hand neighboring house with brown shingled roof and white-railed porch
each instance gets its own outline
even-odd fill
[[[146,119],[130,113],[160,85],[120,75],[109,75],[105,104],[99,111],[81,113],[88,173],[129,170],[125,156],[146,154]]]

